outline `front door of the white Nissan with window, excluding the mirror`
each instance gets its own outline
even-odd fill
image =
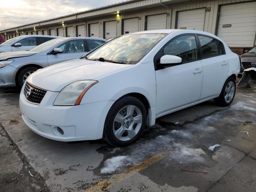
[[[178,65],[156,69],[156,115],[163,116],[199,101],[202,90],[203,66],[199,60],[198,44],[194,34],[178,36],[160,52],[182,58]],[[159,59],[160,60],[160,59]],[[157,64],[161,66],[161,64]]]

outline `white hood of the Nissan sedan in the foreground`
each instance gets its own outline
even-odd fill
[[[99,76],[129,66],[131,65],[74,59],[40,69],[31,74],[27,81],[38,88],[59,92],[72,82],[97,80]]]

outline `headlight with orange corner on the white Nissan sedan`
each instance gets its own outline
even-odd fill
[[[84,94],[93,85],[98,83],[94,80],[82,80],[76,81],[64,87],[58,94],[56,100],[54,101],[55,106],[74,106],[79,105]]]

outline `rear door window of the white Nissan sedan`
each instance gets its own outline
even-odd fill
[[[202,48],[202,58],[214,57],[224,54],[222,43],[218,40],[200,35],[198,35],[198,38]]]

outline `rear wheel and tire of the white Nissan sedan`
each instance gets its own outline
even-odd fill
[[[236,82],[233,77],[229,77],[224,83],[220,96],[218,98],[215,98],[214,102],[218,106],[222,106],[222,107],[229,106],[234,100],[235,94],[236,94]]]

